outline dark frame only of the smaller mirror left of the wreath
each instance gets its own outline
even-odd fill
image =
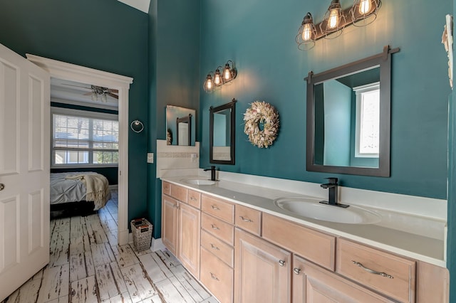
[[[217,107],[210,107],[209,108],[209,163],[214,164],[229,164],[234,165],[234,154],[235,154],[235,130],[234,123],[235,123],[235,109],[236,109],[236,102],[237,100],[233,99],[231,102],[220,105]],[[229,160],[214,160],[214,113],[221,112],[222,110],[231,110],[231,117],[230,117],[230,129],[229,129]]]

